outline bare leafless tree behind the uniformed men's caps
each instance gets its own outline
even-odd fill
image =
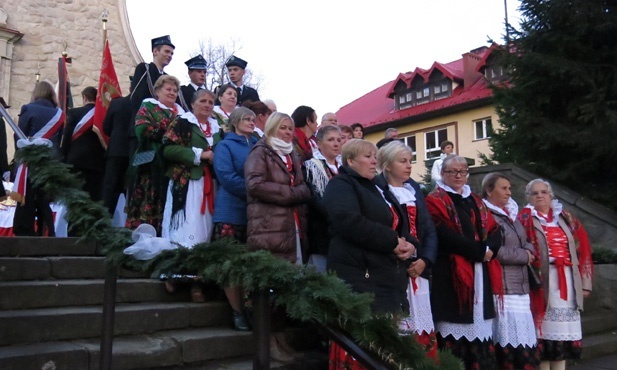
[[[232,40],[231,45],[213,44],[212,39],[199,41],[199,48],[193,52],[191,57],[201,54],[208,62],[208,70],[206,71],[206,87],[208,90],[214,91],[216,87],[229,82],[225,62],[241,49],[241,47],[236,47],[235,40]],[[261,76],[254,74],[250,68],[247,68],[244,74],[244,84],[259,90],[261,83]]]

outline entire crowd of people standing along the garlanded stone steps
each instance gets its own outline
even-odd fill
[[[362,125],[338,125],[332,113],[318,129],[311,107],[277,112],[242,85],[246,62],[235,56],[227,62],[231,82],[216,94],[204,86],[200,56],[186,62],[191,83],[180,86],[163,72],[174,50],[169,36],[152,47],[153,63],[137,66],[131,95],[108,111],[105,166],[93,173],[77,164],[84,154],[75,143],[86,134],[86,145],[95,139],[75,138],[79,116],[67,121],[64,138],[72,140],[54,143],[110,212],[127,172],[128,228],[150,224],[187,248],[231,237],[249,250],[333,271],[354,291],[372,293],[372,310],[394,314],[401,334],[414,335],[436,361],[437,348],[450,349],[467,369],[556,370],[580,357],[591,251],[548,182],[527,185],[519,212],[505,175],[486,176],[481,198],[467,185],[466,160],[449,154],[425,197],[410,178],[412,150],[400,141],[377,149],[363,140]],[[82,95],[87,106],[96,90]],[[51,86],[37,85],[20,114],[27,136],[53,121],[54,99]],[[48,198],[28,194],[31,202]],[[234,327],[250,330],[241,288],[224,290]],[[191,298],[204,300],[198,284]],[[289,360],[273,338],[273,357]],[[331,369],[362,368],[334,344],[330,360]]]

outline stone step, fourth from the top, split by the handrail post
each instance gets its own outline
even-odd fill
[[[100,306],[0,311],[0,346],[96,338],[101,335],[102,312]],[[114,323],[115,335],[232,327],[231,311],[223,301],[120,304]]]

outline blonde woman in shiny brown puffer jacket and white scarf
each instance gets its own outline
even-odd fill
[[[264,137],[246,160],[247,246],[249,250],[268,250],[301,265],[306,251],[303,246],[308,245],[306,202],[311,192],[293,150],[293,133],[291,117],[272,113],[266,121]],[[284,316],[274,312],[273,319],[270,355],[281,362],[293,361],[296,353],[282,332]]]

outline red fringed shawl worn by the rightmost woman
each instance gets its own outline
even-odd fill
[[[533,215],[531,212],[531,208],[523,208],[518,214],[518,220],[525,227],[525,231],[527,232],[527,238],[534,247],[535,260],[531,263],[531,266],[540,274],[540,276],[542,276],[540,243],[538,243],[536,229],[533,226]],[[552,212],[550,213],[550,215],[552,215]],[[566,224],[568,225],[568,229],[570,229],[570,232],[574,237],[576,253],[578,254],[579,272],[581,273],[581,276],[586,276],[591,279],[593,277],[593,262],[591,259],[591,244],[589,243],[587,232],[583,228],[583,225],[580,223],[580,221],[574,218],[566,210],[561,211],[561,216],[563,216]],[[536,327],[540,328],[542,321],[544,320],[544,315],[546,314],[547,302],[544,288],[540,286],[536,289],[531,290],[529,297],[531,299],[531,312],[533,314]]]

